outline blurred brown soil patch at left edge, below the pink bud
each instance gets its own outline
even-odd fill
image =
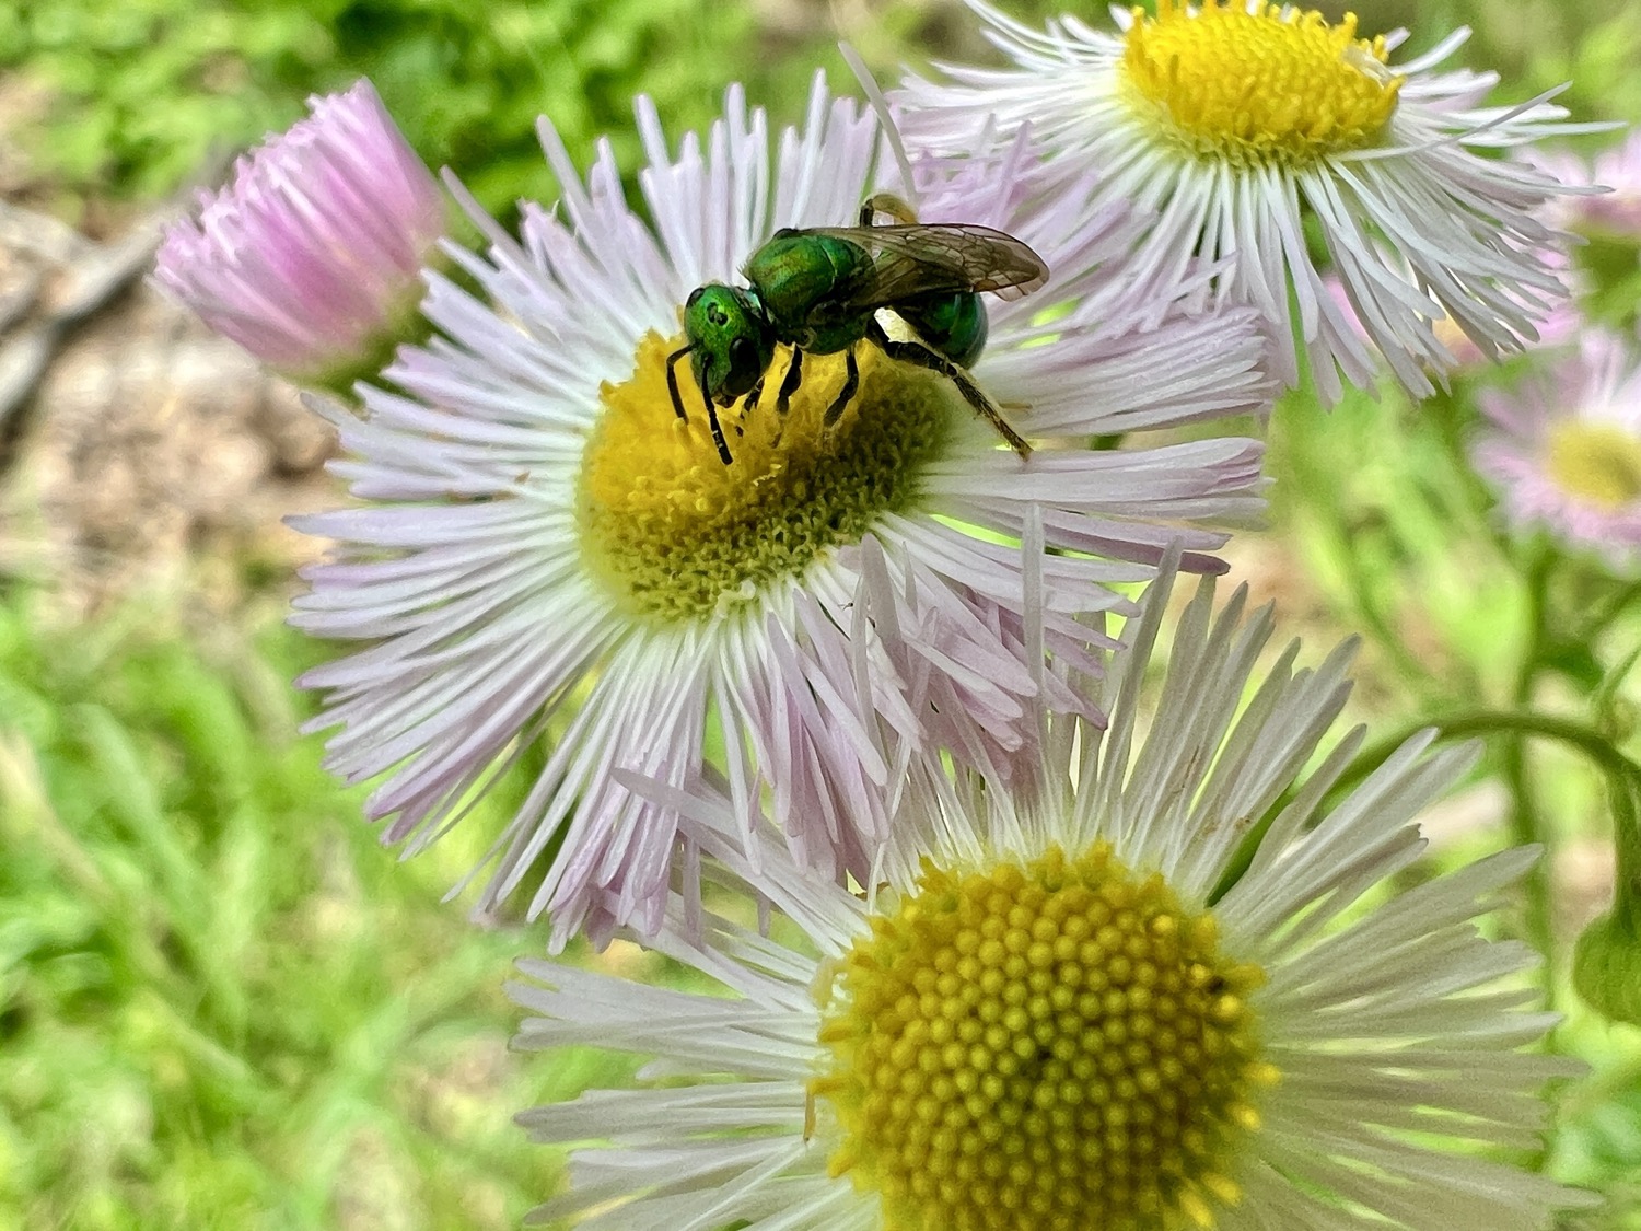
[[[0,235],[0,305],[39,287],[0,330],[0,369],[90,249],[49,220],[33,238],[16,233],[26,228],[25,215]],[[0,576],[46,583],[71,612],[149,588],[287,574],[322,545],[281,519],[340,497],[323,473],[330,428],[148,282],[64,330],[13,414],[26,427],[0,473]]]

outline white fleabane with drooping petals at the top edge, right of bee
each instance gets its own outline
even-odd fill
[[[1264,0],[1114,8],[1119,33],[1072,16],[1032,30],[967,3],[1014,67],[907,77],[893,95],[907,138],[942,148],[990,115],[1004,140],[1031,125],[1067,174],[1098,167],[1096,200],[1157,212],[1149,261],[1229,263],[1218,294],[1275,323],[1288,384],[1303,346],[1336,400],[1339,373],[1374,378],[1377,348],[1423,397],[1454,364],[1436,322],[1497,358],[1562,295],[1543,256],[1557,236],[1534,217],[1561,185],[1472,151],[1572,126],[1544,102],[1485,107],[1493,74],[1436,72],[1467,31],[1393,64],[1405,31],[1365,39],[1352,15],[1329,25]],[[1326,292],[1308,220],[1370,346]]]

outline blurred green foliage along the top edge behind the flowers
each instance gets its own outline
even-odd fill
[[[1623,0],[1323,5],[1346,7],[1365,33],[1410,26],[1411,48],[1469,23],[1475,41],[1460,59],[1503,69],[1503,97],[1570,79],[1564,102],[1580,117],[1641,115],[1630,71],[1641,11]],[[1062,0],[1008,8],[1024,20],[1090,15]],[[732,80],[781,120],[798,117],[817,66],[847,89],[839,36],[886,79],[903,62],[988,54],[957,0],[870,0],[845,30],[827,11],[819,0],[20,0],[0,5],[0,72],[46,90],[30,154],[69,199],[166,195],[213,151],[286,128],[310,94],[368,76],[428,164],[455,169],[505,217],[520,195],[551,194],[538,115],[581,156],[609,133],[632,169],[640,92],[678,133],[709,123]]]

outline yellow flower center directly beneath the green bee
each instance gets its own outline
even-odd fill
[[[857,346],[860,389],[842,417],[842,355],[804,355],[786,415],[776,391],[791,358],[779,346],[758,405],[719,409],[734,461],[724,464],[688,361],[678,364],[679,419],[666,356],[683,345],[648,333],[633,374],[601,391],[604,410],[581,466],[583,556],[629,614],[702,619],[753,602],[799,576],[822,551],[858,542],[917,497],[917,474],[960,410],[950,382]]]

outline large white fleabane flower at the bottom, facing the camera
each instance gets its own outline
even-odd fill
[[[1316,670],[1290,647],[1255,688],[1268,609],[1244,622],[1239,593],[1214,614],[1204,583],[1152,694],[1160,589],[1096,698],[1109,729],[1040,714],[1037,775],[1004,789],[914,760],[862,893],[770,834],[742,855],[722,793],[678,801],[712,901],[766,898],[771,926],[673,899],[653,944],[711,990],[520,963],[509,991],[537,1016],[515,1046],[648,1057],[635,1088],[520,1116],[573,1147],[538,1218],[1529,1231],[1582,1203],[1500,1160],[1536,1146],[1543,1085],[1577,1070],[1520,1050],[1556,1021],[1510,978],[1536,954],[1475,926],[1536,852],[1395,883],[1469,752],[1421,737],[1321,808],[1360,730],[1295,775],[1344,702],[1351,647]]]

